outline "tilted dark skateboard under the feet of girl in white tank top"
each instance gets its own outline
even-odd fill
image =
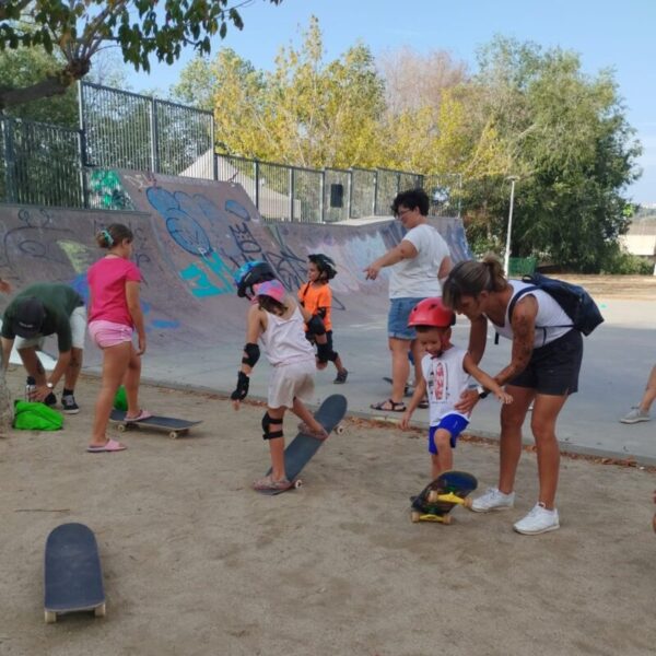
[[[341,434],[343,427],[340,426],[340,422],[347,413],[347,398],[341,394],[333,394],[320,405],[314,417],[326,429],[328,434],[332,433],[332,431]],[[319,450],[324,442],[326,440],[317,440],[312,435],[298,433],[284,449],[284,470],[288,479],[293,482],[293,487],[285,490],[262,490],[261,493],[274,496],[281,492],[286,492],[286,490],[300,488],[303,481],[298,478],[298,475],[309,460],[312,460],[317,450]],[[270,473],[271,469],[265,476],[269,476]]]

